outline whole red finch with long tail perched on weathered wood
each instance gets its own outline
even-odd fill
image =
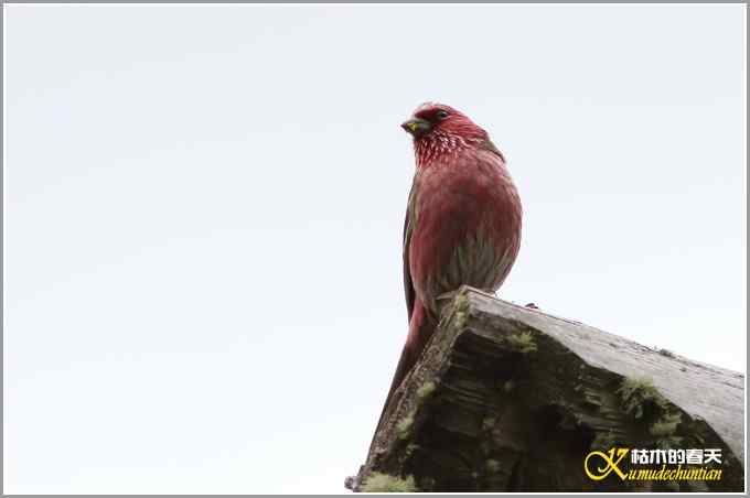
[[[435,332],[437,297],[462,284],[495,292],[521,243],[521,199],[486,131],[458,110],[431,102],[401,127],[414,137],[417,163],[404,223],[409,335],[381,423]]]

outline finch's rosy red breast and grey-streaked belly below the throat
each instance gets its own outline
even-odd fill
[[[496,291],[518,253],[521,202],[502,159],[465,147],[425,163],[409,206],[409,272],[415,294],[435,299],[462,284]]]

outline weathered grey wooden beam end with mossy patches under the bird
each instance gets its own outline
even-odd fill
[[[625,379],[649,379],[661,401],[635,416]],[[741,491],[743,386],[741,374],[462,288],[347,487],[382,473],[425,491]],[[679,423],[655,435],[667,413]],[[613,445],[719,447],[722,478],[586,477],[586,455]]]

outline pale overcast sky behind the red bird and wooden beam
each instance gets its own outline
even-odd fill
[[[425,100],[508,158],[501,297],[744,371],[741,4],[2,10],[6,492],[344,491]]]

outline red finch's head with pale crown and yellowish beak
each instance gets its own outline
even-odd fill
[[[463,139],[485,138],[486,132],[469,117],[450,106],[426,102],[419,106],[411,118],[401,123],[415,141],[439,137],[460,137]]]

